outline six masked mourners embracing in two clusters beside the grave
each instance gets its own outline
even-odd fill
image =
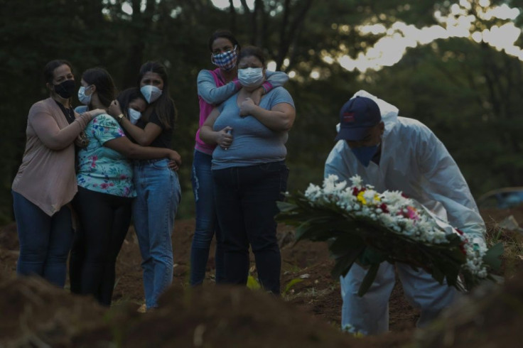
[[[215,32],[209,49],[217,68],[198,75],[190,284],[203,283],[216,234],[217,283],[247,282],[250,245],[262,286],[279,293],[274,215],[286,191],[285,143],[296,114],[281,87],[289,77],[267,72],[262,50],[241,49],[229,31]],[[50,97],[29,111],[26,151],[12,185],[17,273],[63,287],[69,259],[72,293],[110,305],[132,219],[146,309],[156,308],[173,280],[171,236],[181,198],[166,67],[146,62],[139,84],[119,94],[101,67],[82,73],[80,89],[66,60],[48,62],[44,77]],[[84,106],[72,107],[74,94]]]

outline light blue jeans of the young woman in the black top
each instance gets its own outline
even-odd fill
[[[144,271],[146,308],[158,307],[158,297],[173,282],[174,216],[181,200],[178,174],[168,159],[135,161],[134,229]]]

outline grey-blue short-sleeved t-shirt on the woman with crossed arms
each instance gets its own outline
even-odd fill
[[[234,94],[220,105],[220,116],[213,129],[220,131],[232,127],[232,144],[227,150],[217,146],[212,153],[212,169],[245,167],[283,161],[287,154],[286,131],[272,131],[254,116],[239,116],[238,94]],[[264,95],[259,106],[270,110],[276,104],[287,103],[294,107],[291,94],[284,87],[276,87]]]

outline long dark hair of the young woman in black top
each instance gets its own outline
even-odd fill
[[[161,62],[149,61],[145,62],[144,65],[140,67],[140,73],[138,75],[138,85],[140,85],[141,79],[144,78],[146,72],[156,72],[160,75],[161,80],[163,80],[163,89],[161,96],[152,102],[150,105],[153,105],[153,112],[156,112],[158,119],[161,124],[163,124],[166,129],[173,129],[174,124],[171,124],[171,117],[169,116],[174,110],[174,121],[178,116],[176,112],[176,106],[174,105],[173,99],[169,96],[169,82],[167,77],[167,68]]]

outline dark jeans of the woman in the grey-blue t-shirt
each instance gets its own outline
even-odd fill
[[[247,284],[249,244],[262,287],[280,293],[281,256],[276,201],[287,189],[284,161],[212,170],[218,222],[225,249],[225,283]]]

